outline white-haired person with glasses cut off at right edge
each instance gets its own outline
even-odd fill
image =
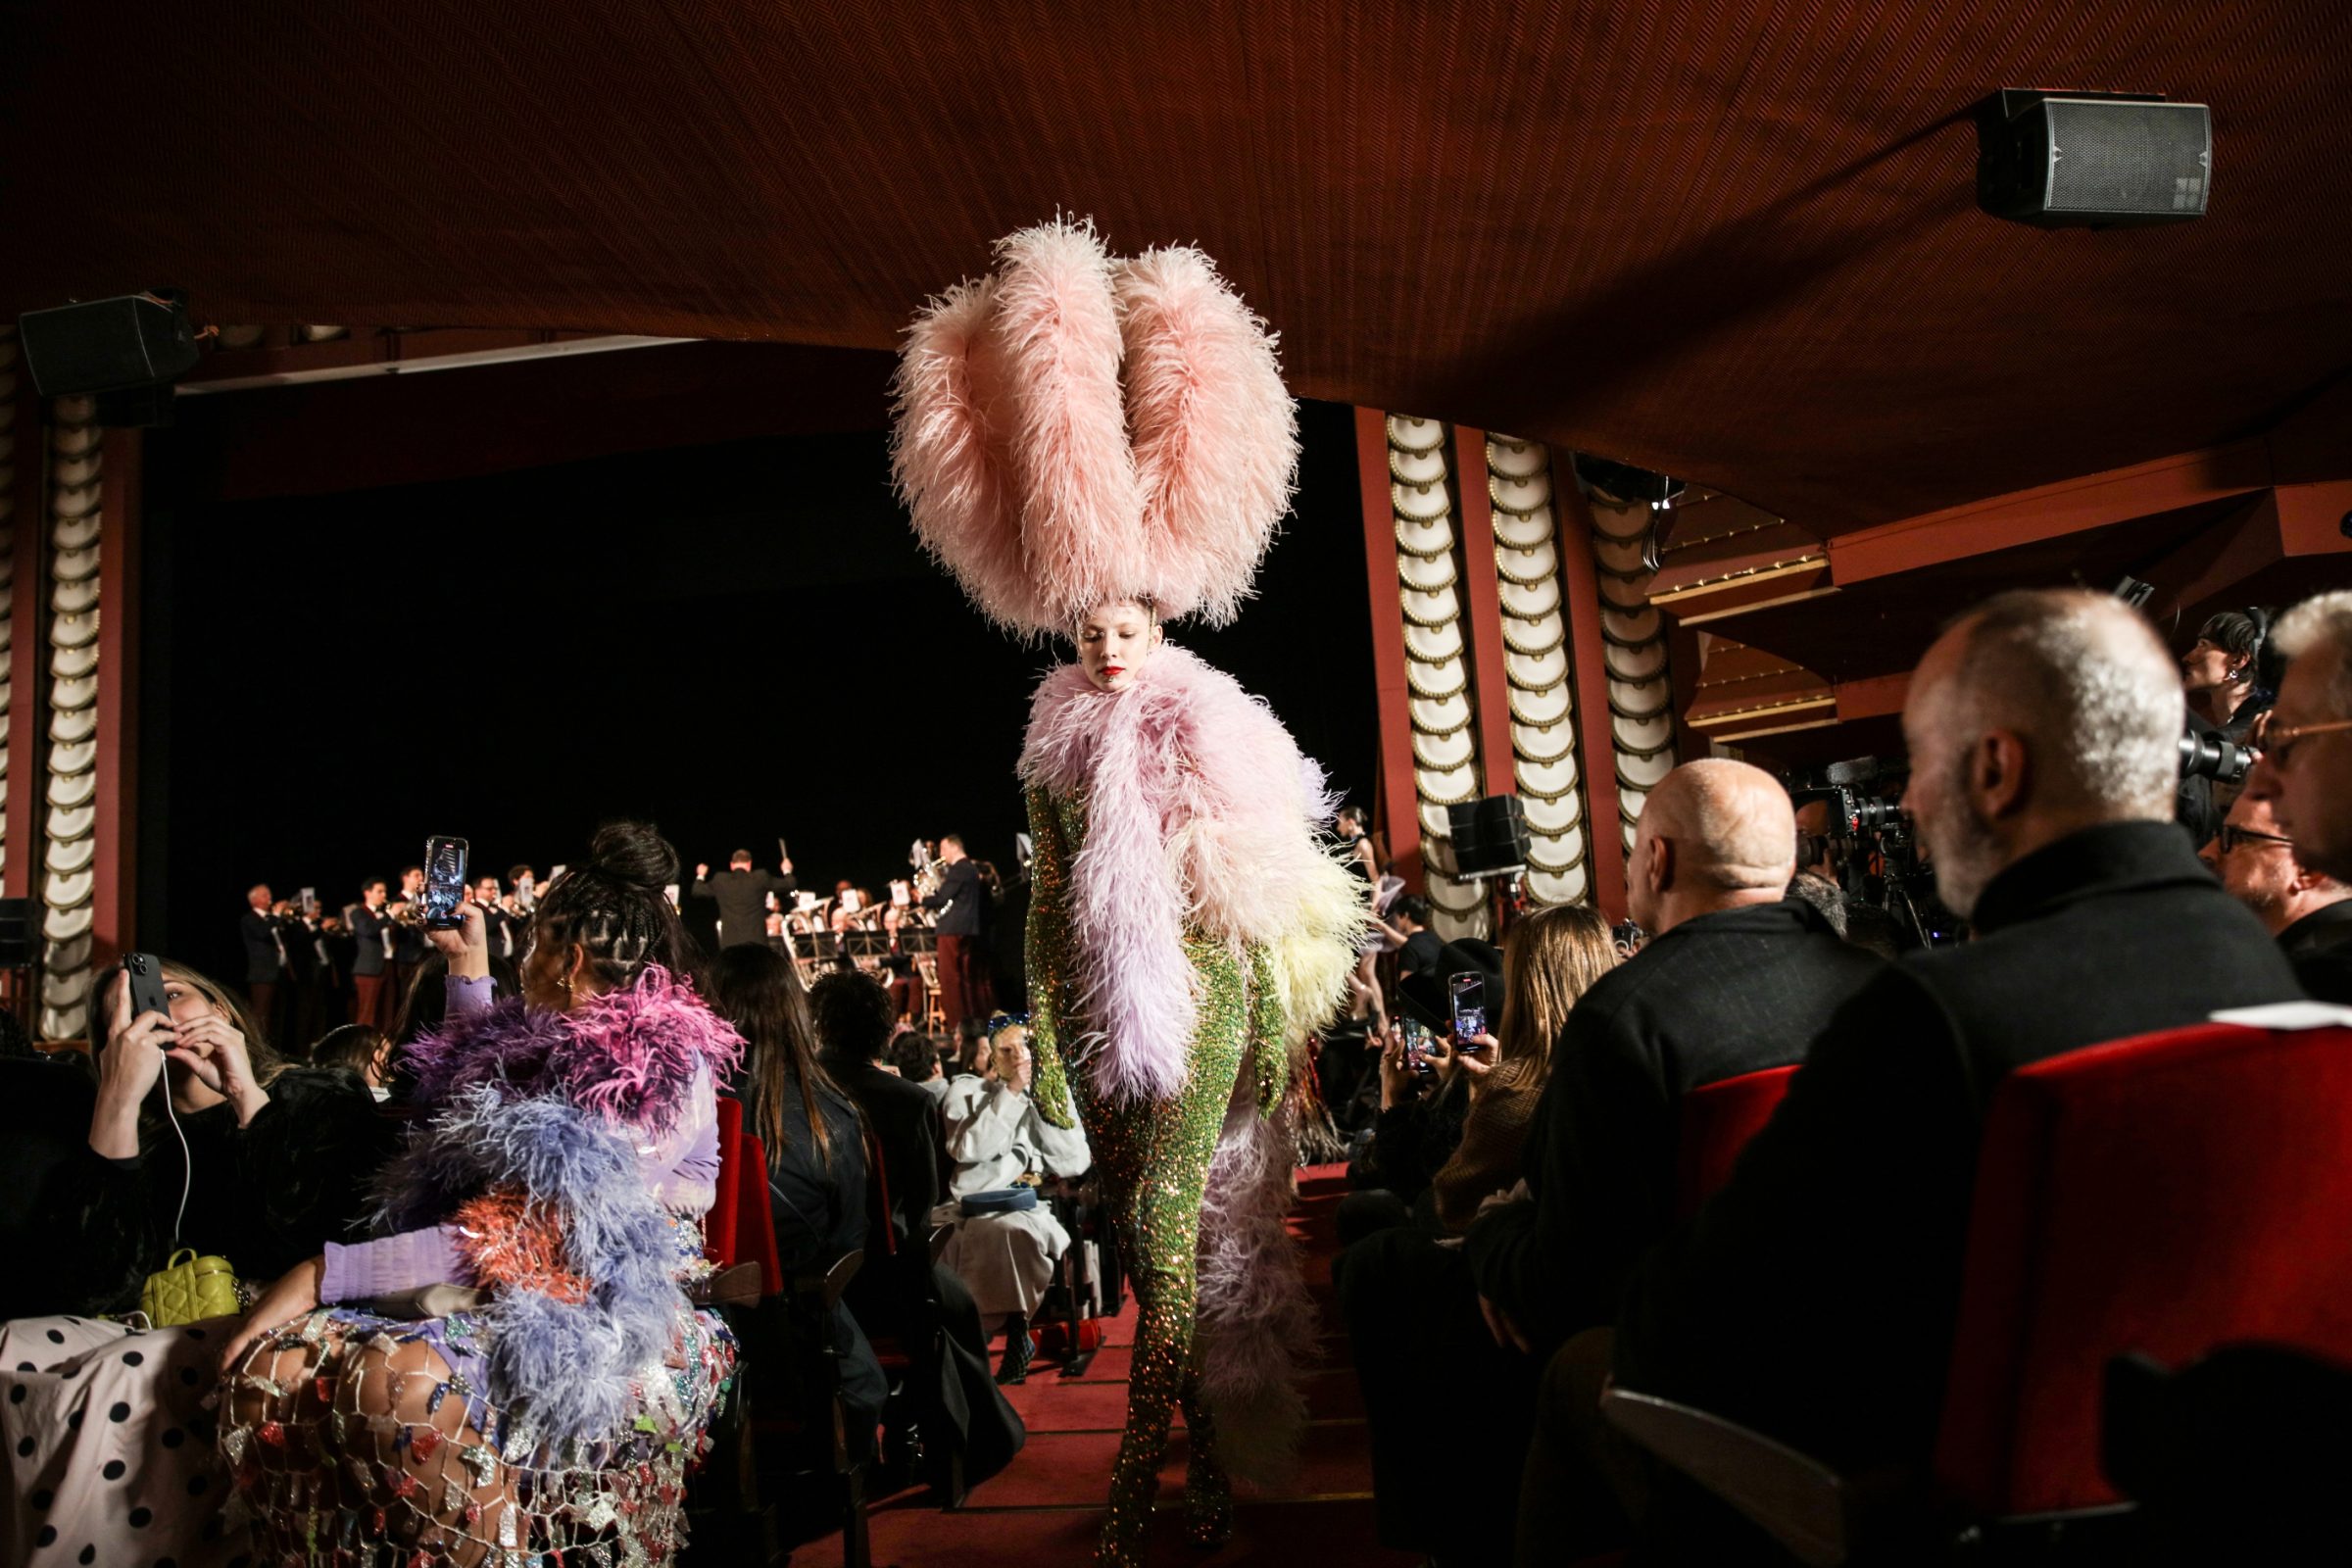
[[[2246,795],[2270,802],[2305,865],[2352,884],[2352,590],[2286,611],[2274,642],[2291,663]]]

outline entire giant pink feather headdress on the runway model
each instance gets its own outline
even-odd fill
[[[1127,597],[1223,625],[1289,510],[1275,339],[1190,247],[1115,259],[1061,219],[997,240],[995,275],[915,317],[896,395],[915,534],[1014,630]]]

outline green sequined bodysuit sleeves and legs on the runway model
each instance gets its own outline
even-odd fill
[[[1190,1455],[1188,1505],[1192,1512],[1225,1505],[1225,1476],[1214,1460],[1216,1436],[1200,1399],[1195,1340],[1200,1201],[1218,1131],[1225,1126],[1225,1107],[1247,1058],[1256,1058],[1261,1105],[1272,1105],[1279,1095],[1282,1027],[1272,1013],[1263,950],[1251,950],[1244,966],[1230,945],[1192,938],[1185,943],[1185,954],[1200,973],[1202,992],[1183,1091],[1174,1100],[1110,1103],[1094,1091],[1082,1063],[1065,1070],[1063,1004],[1075,973],[1068,875],[1084,844],[1084,802],[1030,790],[1028,806],[1030,837],[1037,844],[1030,863],[1028,929],[1037,1105],[1047,1119],[1063,1121],[1075,1100],[1105,1199],[1117,1215],[1127,1276],[1136,1288],[1127,1434],[1110,1474],[1110,1519],[1103,1526],[1103,1559],[1124,1561],[1150,1514],[1160,1460],[1167,1455],[1169,1420],[1178,1403],[1185,1413]],[[1275,1046],[1254,1051],[1256,1041]]]

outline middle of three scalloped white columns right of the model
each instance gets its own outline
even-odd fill
[[[1552,454],[1543,442],[1486,435],[1494,571],[1503,597],[1510,677],[1510,762],[1526,809],[1526,891],[1536,903],[1585,903],[1585,792],[1576,771],[1576,693],[1569,618],[1552,527]]]

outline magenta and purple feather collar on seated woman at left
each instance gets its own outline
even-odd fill
[[[501,1001],[421,1034],[407,1051],[419,1105],[447,1105],[477,1084],[560,1093],[656,1138],[677,1126],[699,1065],[710,1063],[710,1077],[724,1084],[741,1058],[734,1025],[661,964],[572,1013]]]

